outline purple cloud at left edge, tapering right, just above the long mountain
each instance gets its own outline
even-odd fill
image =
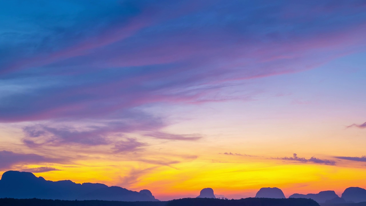
[[[10,169],[14,165],[28,165],[41,163],[67,163],[61,158],[44,157],[37,154],[14,153],[12,151],[0,151],[0,169]]]

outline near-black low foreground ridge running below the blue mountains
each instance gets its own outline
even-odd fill
[[[245,199],[214,199],[214,198],[183,198],[161,202],[120,202],[120,201],[66,201],[48,199],[0,199],[1,206],[319,206],[311,199],[289,198],[245,198]]]

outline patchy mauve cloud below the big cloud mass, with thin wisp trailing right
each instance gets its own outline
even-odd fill
[[[82,128],[74,128],[72,126],[47,126],[45,124],[36,124],[23,128],[25,138],[23,143],[31,148],[44,145],[61,146],[67,144],[79,144],[85,146],[98,146],[114,144],[115,152],[137,151],[146,143],[141,143],[135,138],[127,138],[127,140],[115,141],[109,136],[114,134],[127,134],[131,132],[142,133],[146,137],[154,137],[156,139],[165,140],[182,140],[195,141],[202,138],[199,134],[176,135],[158,131],[165,124],[158,118],[143,115],[141,119],[138,114],[127,118],[124,121],[108,121],[99,126],[86,126]],[[150,118],[149,118],[150,117]],[[128,120],[128,121],[126,121]],[[146,131],[150,131],[146,133]]]

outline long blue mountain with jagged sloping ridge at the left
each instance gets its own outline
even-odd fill
[[[0,198],[61,200],[158,201],[149,190],[130,191],[99,183],[49,181],[30,172],[7,171],[0,180]]]

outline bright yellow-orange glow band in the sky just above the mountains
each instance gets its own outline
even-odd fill
[[[210,162],[198,158],[168,166],[142,165],[139,162],[79,162],[80,165],[52,165],[58,171],[36,173],[46,180],[72,180],[76,183],[104,183],[129,190],[148,189],[156,198],[197,196],[205,187],[228,198],[254,196],[261,187],[278,187],[286,196],[335,190],[339,195],[347,187],[359,186],[366,177],[363,168],[305,163],[284,163],[267,158],[235,158],[223,155],[227,162]],[[241,162],[238,162],[241,160]],[[94,165],[94,166],[85,166]],[[41,165],[27,165],[37,168]],[[137,173],[136,177],[130,177]],[[133,174],[132,174],[133,176]],[[126,180],[127,177],[127,180]],[[131,178],[131,181],[128,181]],[[365,181],[364,181],[365,183]]]

